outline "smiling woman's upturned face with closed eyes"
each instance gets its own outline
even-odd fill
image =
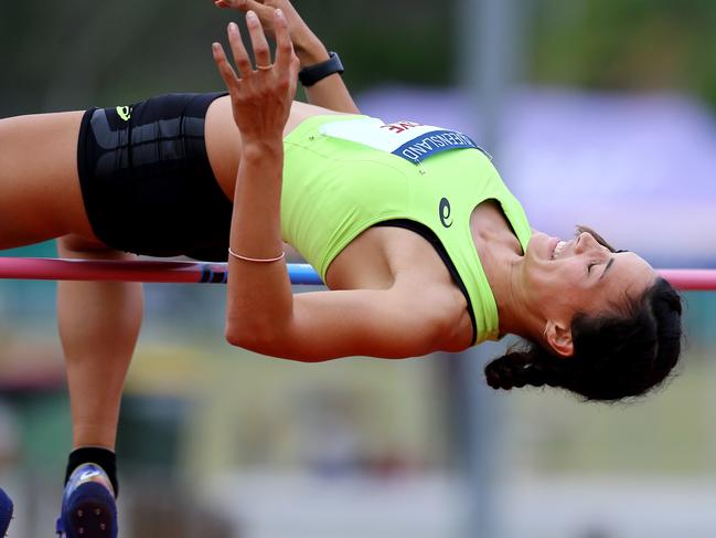
[[[592,231],[562,241],[535,233],[527,245],[523,284],[545,319],[570,324],[576,314],[618,314],[626,297],[637,297],[656,278],[632,252],[616,252]]]

